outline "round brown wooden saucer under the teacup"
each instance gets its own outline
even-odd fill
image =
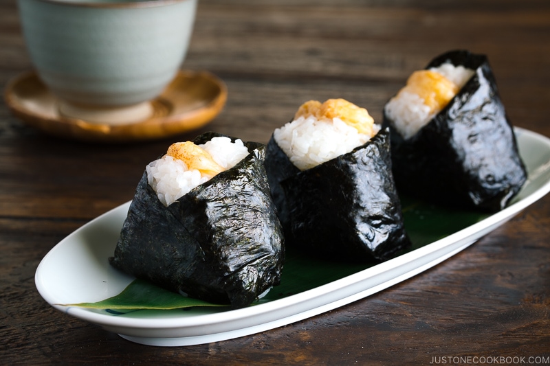
[[[44,133],[81,141],[132,142],[169,137],[204,126],[221,112],[227,87],[207,71],[179,71],[164,92],[151,101],[151,117],[118,126],[61,115],[58,98],[33,71],[8,82],[4,98],[14,115]]]

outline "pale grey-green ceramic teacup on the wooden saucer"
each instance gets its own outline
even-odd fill
[[[173,80],[197,0],[18,0],[23,36],[62,115],[126,124]]]

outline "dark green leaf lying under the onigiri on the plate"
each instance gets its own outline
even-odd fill
[[[412,241],[412,247],[407,251],[413,251],[449,236],[489,216],[489,214],[473,211],[445,209],[408,198],[402,200],[402,205],[405,229]],[[256,301],[252,306],[311,290],[374,265],[329,262],[309,258],[304,253],[287,248],[281,284],[272,288],[265,297]],[[113,314],[144,309],[168,310],[197,306],[224,306],[183,297],[140,279],[136,279],[122,293],[109,299],[96,303],[64,305],[105,309]]]

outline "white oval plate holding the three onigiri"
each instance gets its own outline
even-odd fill
[[[529,179],[509,207],[441,240],[296,295],[239,310],[140,310],[115,315],[61,306],[118,295],[133,277],[109,265],[130,203],[59,242],[36,269],[36,288],[54,308],[146,345],[195,345],[233,339],[300,321],[362,299],[450,258],[550,191],[550,139],[516,128]]]

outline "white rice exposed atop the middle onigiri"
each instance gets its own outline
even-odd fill
[[[380,130],[380,126],[375,125],[375,128]],[[371,138],[340,118],[317,119],[314,116],[298,117],[277,128],[273,137],[300,170],[313,168],[351,152]]]

